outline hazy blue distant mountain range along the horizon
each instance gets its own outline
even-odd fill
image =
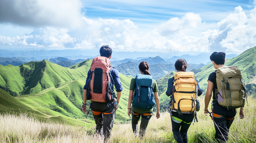
[[[112,52],[112,61],[119,61],[124,59],[133,59],[133,60],[140,60],[140,59],[147,59],[149,57],[155,57],[154,52]],[[177,59],[182,58],[186,59],[188,63],[207,63],[209,61],[209,56],[211,53],[201,53],[199,55],[182,55],[182,56],[173,56],[169,57],[161,57],[165,59],[165,61],[169,61],[171,63],[174,63]],[[49,60],[50,58],[56,58],[56,57],[64,57],[68,58],[70,60],[77,60],[77,59],[90,59],[94,58],[96,56],[99,56],[99,49],[85,49],[85,50],[79,50],[79,49],[65,49],[65,50],[47,50],[47,49],[27,49],[27,50],[3,50],[0,49],[0,57],[5,58],[12,58],[12,57],[20,57],[25,59],[34,58],[36,60],[34,61],[42,61],[42,60]],[[236,54],[230,54],[226,55],[227,59],[236,57]],[[138,58],[139,57],[139,58]],[[49,59],[47,59],[49,58]],[[128,62],[128,61],[127,61]]]

